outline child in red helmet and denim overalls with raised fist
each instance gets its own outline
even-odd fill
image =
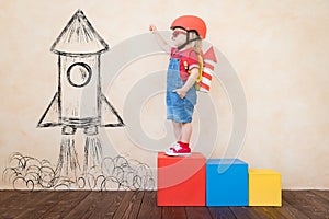
[[[202,72],[200,57],[206,25],[197,16],[183,15],[175,19],[170,28],[173,31],[171,37],[173,47],[161,37],[155,25],[149,26],[160,46],[170,54],[167,71],[167,118],[172,120],[177,142],[164,152],[167,155],[190,155],[192,115],[197,99],[195,82]]]

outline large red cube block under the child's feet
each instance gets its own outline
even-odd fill
[[[205,206],[206,159],[158,153],[158,206]]]

